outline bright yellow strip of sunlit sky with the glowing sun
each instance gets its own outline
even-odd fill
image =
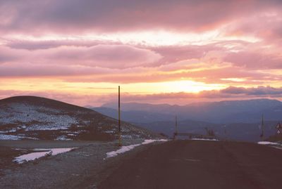
[[[20,91],[69,91],[74,93],[116,93],[118,85],[126,93],[198,93],[200,91],[226,88],[224,84],[204,84],[203,82],[172,81],[133,84],[114,84],[109,82],[63,82],[59,79],[10,79],[8,84],[1,83],[2,89]]]

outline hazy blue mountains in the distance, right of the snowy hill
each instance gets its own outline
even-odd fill
[[[92,107],[109,117],[117,117],[116,103]],[[121,118],[157,133],[172,136],[175,117],[178,131],[206,133],[213,129],[217,136],[238,141],[259,141],[264,115],[264,136],[276,133],[275,126],[282,120],[282,103],[279,100],[231,100],[190,105],[152,105],[145,103],[122,103]]]

